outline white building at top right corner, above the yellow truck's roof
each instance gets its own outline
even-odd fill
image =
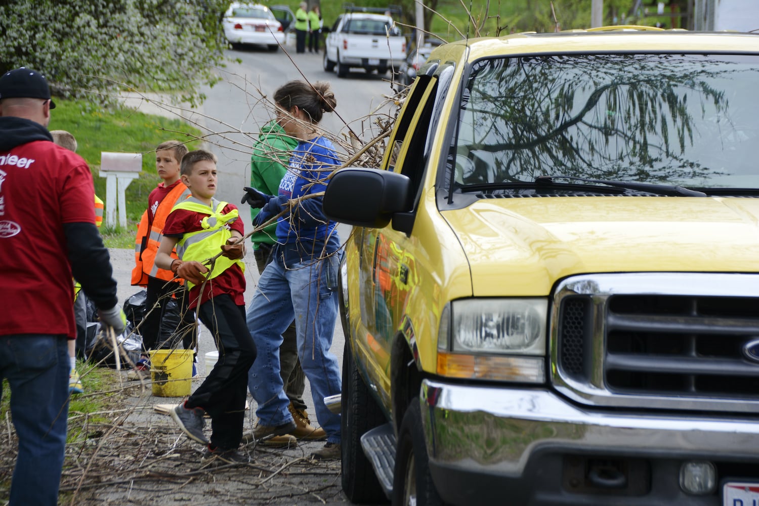
[[[694,30],[759,33],[759,0],[694,0]]]

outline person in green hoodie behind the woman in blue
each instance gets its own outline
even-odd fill
[[[253,154],[250,156],[250,186],[261,193],[276,195],[279,192],[279,183],[287,172],[295,146],[298,146],[298,139],[288,136],[276,120],[264,125],[258,139],[254,142]],[[242,203],[245,201],[244,198]],[[256,218],[260,210],[250,207],[251,221]],[[277,223],[272,222],[263,230],[250,235],[259,274],[269,263],[269,254],[276,243],[276,228]],[[285,384],[285,394],[290,399],[288,409],[295,421],[295,429],[291,436],[305,440],[323,439],[326,437],[326,432],[324,429],[311,426],[306,413],[306,403],[303,400],[306,376],[301,368],[301,361],[298,360],[298,340],[294,322],[285,330],[282,338],[282,346],[279,348],[279,372]],[[276,436],[265,440],[263,444],[294,446],[291,436]]]

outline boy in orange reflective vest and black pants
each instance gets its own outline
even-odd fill
[[[159,269],[155,263],[166,217],[176,203],[190,196],[190,190],[187,190],[179,177],[180,162],[186,153],[187,146],[178,140],[167,140],[156,147],[156,171],[163,181],[150,192],[147,209],[143,212],[137,228],[132,284],[146,288],[147,313],[137,328],[137,332],[143,337],[143,348],[146,351],[173,345],[159,342],[162,316],[172,296],[176,297],[179,303],[181,322],[178,330],[182,335],[184,348],[194,349],[197,341],[195,318],[188,309],[184,280],[175,278],[171,271]],[[172,257],[178,258],[175,252],[172,253]],[[149,369],[146,357],[137,363],[137,369]]]

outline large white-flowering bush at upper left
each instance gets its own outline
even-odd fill
[[[197,103],[227,42],[225,0],[7,0],[0,73],[27,66],[55,96],[107,102],[116,90],[159,90]]]

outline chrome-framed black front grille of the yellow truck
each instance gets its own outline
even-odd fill
[[[553,307],[554,385],[579,401],[759,412],[759,276],[578,276]]]

